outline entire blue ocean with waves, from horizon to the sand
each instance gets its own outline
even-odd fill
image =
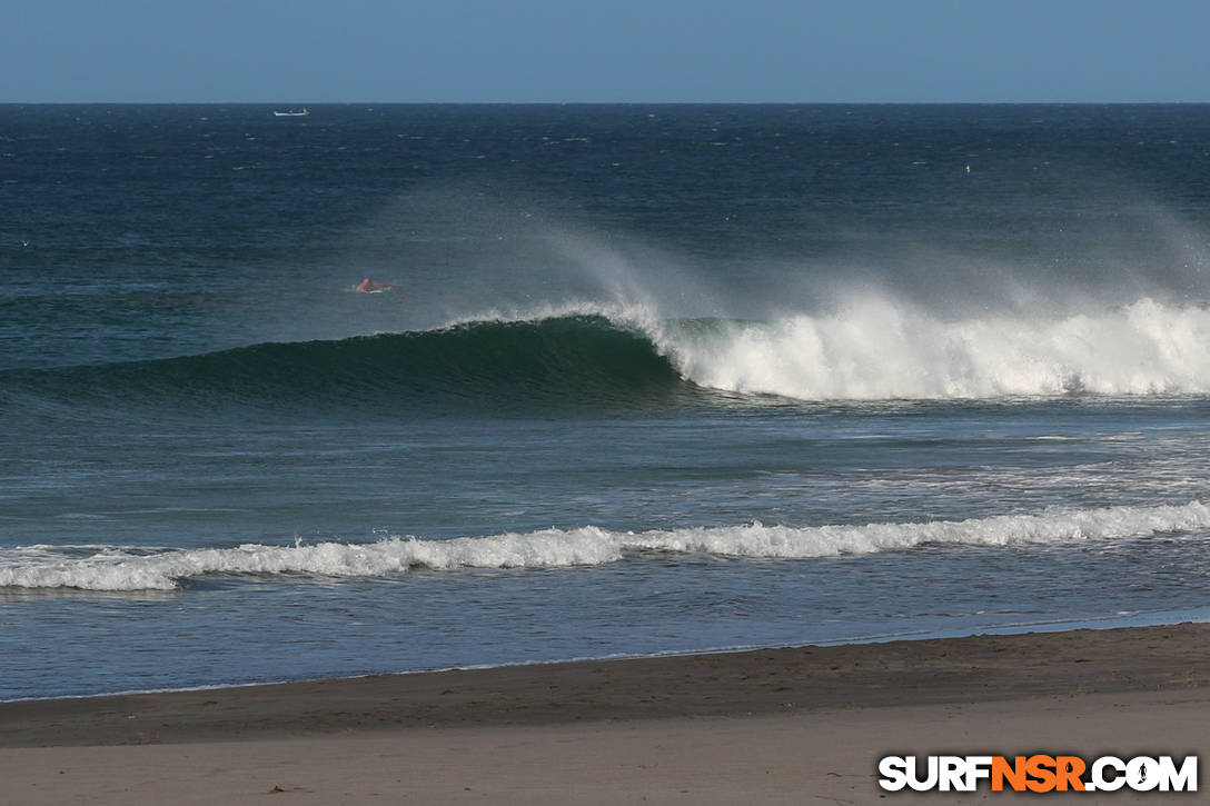
[[[272,111],[0,105],[0,700],[1210,612],[1210,106]]]

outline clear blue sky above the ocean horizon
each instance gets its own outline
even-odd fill
[[[13,0],[0,103],[1210,100],[1205,0]]]

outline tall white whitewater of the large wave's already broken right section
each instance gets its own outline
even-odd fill
[[[1210,392],[1210,311],[1152,299],[944,319],[866,295],[829,315],[649,333],[698,385],[807,401]]]

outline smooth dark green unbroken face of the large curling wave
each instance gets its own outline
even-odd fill
[[[691,395],[652,339],[603,316],[0,374],[10,403],[290,409],[635,407]]]

